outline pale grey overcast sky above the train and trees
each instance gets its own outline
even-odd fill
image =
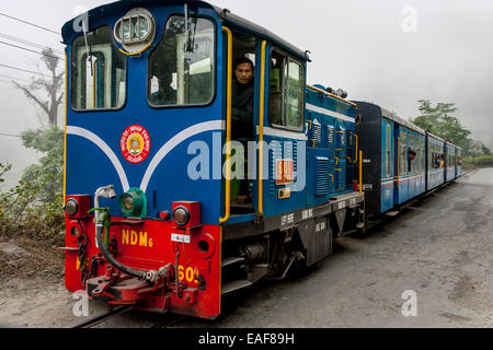
[[[60,31],[77,8],[112,1],[3,1],[1,13]],[[405,118],[419,100],[456,103],[473,138],[493,149],[493,2],[490,0],[215,0],[311,51],[310,84],[342,88]],[[0,33],[62,50],[55,34],[0,16]],[[9,42],[0,38],[0,42]],[[9,42],[12,43],[12,42]],[[15,44],[15,43],[12,43]],[[32,47],[31,47],[32,48]],[[36,70],[39,56],[0,44],[0,65]],[[0,67],[0,133],[39,126],[25,96],[4,81],[30,73]],[[0,136],[0,162],[14,174],[35,159],[16,138]]]

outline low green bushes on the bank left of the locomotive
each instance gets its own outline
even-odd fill
[[[26,148],[46,155],[24,171],[15,187],[0,194],[0,235],[62,245],[64,132],[57,127],[26,131],[22,141]],[[0,164],[0,178],[9,170]]]

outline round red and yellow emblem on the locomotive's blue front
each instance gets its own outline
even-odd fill
[[[150,151],[149,132],[139,125],[128,127],[122,135],[121,149],[128,162],[134,164],[144,162]]]

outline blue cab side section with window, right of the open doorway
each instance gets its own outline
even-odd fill
[[[257,213],[272,217],[306,203],[306,63],[259,44]]]

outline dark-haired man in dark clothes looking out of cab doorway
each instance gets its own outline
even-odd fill
[[[241,57],[236,62],[232,83],[232,139],[253,140],[254,65]]]

